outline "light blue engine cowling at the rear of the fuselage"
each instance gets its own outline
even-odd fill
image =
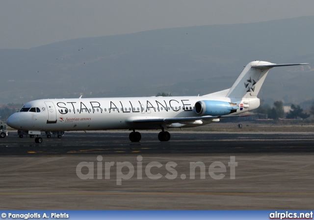
[[[236,112],[239,109],[235,103],[203,100],[195,103],[194,110],[197,114],[219,116]]]

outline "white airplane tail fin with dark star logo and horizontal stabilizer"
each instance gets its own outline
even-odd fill
[[[277,66],[295,66],[308,63],[275,64],[265,61],[253,61],[248,63],[235,83],[229,89],[226,97],[229,98],[255,98],[262,83],[268,74],[269,69]]]

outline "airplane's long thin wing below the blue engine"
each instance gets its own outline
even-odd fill
[[[230,117],[246,117],[249,115],[239,114],[239,115],[222,115],[222,116],[201,116],[201,117],[181,117],[181,118],[143,118],[134,119],[130,122],[133,123],[152,123],[152,124],[172,124],[172,123],[183,123],[193,122],[197,120],[207,120],[211,121],[215,118],[230,118]]]

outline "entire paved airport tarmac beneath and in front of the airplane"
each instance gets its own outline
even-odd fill
[[[313,209],[314,133],[157,133],[11,132],[0,209]]]

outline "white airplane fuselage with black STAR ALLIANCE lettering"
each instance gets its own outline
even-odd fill
[[[134,124],[136,119],[176,118],[199,116],[194,105],[201,100],[231,102],[226,97],[135,97],[135,98],[82,98],[42,99],[26,103],[11,117],[15,127],[24,131],[82,131],[109,129],[160,129],[158,124]],[[235,100],[232,100],[235,102]],[[243,103],[239,99],[235,104]],[[239,114],[249,110],[238,109]],[[34,112],[36,110],[36,112]],[[172,127],[196,127],[211,123],[169,123]]]

